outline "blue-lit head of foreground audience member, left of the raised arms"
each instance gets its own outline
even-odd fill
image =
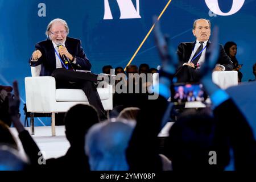
[[[85,152],[92,171],[126,171],[126,148],[134,128],[133,122],[98,123],[86,135]]]

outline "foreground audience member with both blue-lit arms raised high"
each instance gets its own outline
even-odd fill
[[[148,100],[148,102],[156,102],[151,107],[145,102],[139,112],[137,125],[126,150],[127,162],[132,171],[163,169],[158,156],[156,138],[167,122],[164,115],[165,110],[168,111],[168,106],[171,106],[167,104],[167,99],[171,94],[169,89],[172,77],[175,75],[177,60],[174,53],[168,52],[171,49],[167,46],[160,32],[159,23],[156,21],[155,17],[155,40],[164,65],[159,72],[160,89],[156,90],[159,98]],[[232,151],[235,169],[255,170],[256,143],[251,127],[225,90],[218,88],[212,81],[212,70],[217,63],[219,53],[217,28],[214,29],[209,53],[200,69],[199,77],[212,101],[213,114],[207,113],[209,123],[201,118],[204,117],[201,114],[196,116],[200,118],[199,122],[196,121],[196,117],[190,118],[190,115],[186,114],[187,118],[183,118],[185,123],[182,121],[174,123],[168,138],[172,167],[174,170],[223,170],[229,163],[229,151]],[[170,114],[169,111],[168,113]],[[217,161],[211,158],[210,151],[216,152]]]

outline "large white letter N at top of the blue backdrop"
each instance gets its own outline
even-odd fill
[[[141,18],[139,15],[139,0],[136,0],[136,9],[131,0],[116,0],[120,10],[119,19],[131,19],[131,18]],[[103,19],[113,19],[109,0],[104,0],[104,18]]]

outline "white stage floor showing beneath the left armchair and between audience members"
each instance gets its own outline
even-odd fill
[[[172,124],[173,122],[168,122],[159,133],[158,137],[167,137]],[[26,127],[26,130],[30,132],[30,127]],[[10,131],[18,143],[20,154],[23,159],[27,160],[16,129],[11,127]],[[65,137],[65,126],[56,126],[56,137],[51,137],[51,126],[37,126],[35,127],[35,135],[32,135],[32,138],[35,140],[36,144],[38,144],[44,159],[63,156],[70,146],[67,138]]]

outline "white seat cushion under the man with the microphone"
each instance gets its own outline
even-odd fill
[[[108,88],[97,88],[98,94],[101,100],[109,99]],[[85,96],[84,91],[81,89],[56,89],[56,101],[57,102],[88,102],[88,98]]]

